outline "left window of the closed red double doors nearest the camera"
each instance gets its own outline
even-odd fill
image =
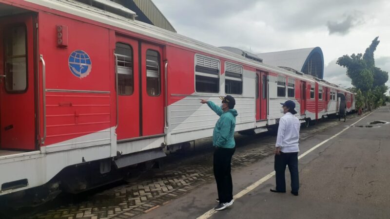
[[[127,44],[117,43],[115,55],[117,56],[118,94],[132,95],[134,92],[133,49]]]

